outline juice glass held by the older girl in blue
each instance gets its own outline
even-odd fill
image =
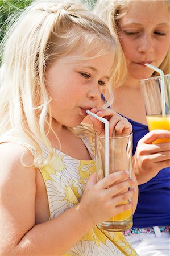
[[[139,82],[149,131],[155,129],[170,131],[170,74],[142,79]],[[161,142],[170,142],[170,139],[156,139],[154,143]]]

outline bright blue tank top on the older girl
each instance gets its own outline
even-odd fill
[[[139,139],[148,133],[148,126],[131,119],[128,121],[133,126],[134,154]],[[170,167],[161,170],[147,183],[139,185],[133,228],[151,226],[170,226]]]

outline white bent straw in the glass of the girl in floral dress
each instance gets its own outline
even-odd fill
[[[109,175],[109,121],[106,118],[98,117],[97,114],[86,110],[86,113],[105,124],[105,177]]]

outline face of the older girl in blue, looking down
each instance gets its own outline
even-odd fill
[[[159,67],[170,45],[170,14],[162,1],[134,1],[120,19],[120,42],[125,53],[128,74],[144,79],[154,71],[144,66]]]

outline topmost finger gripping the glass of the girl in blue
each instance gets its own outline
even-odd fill
[[[156,139],[170,138],[170,131],[168,130],[152,130],[141,139],[142,142],[152,144]]]

